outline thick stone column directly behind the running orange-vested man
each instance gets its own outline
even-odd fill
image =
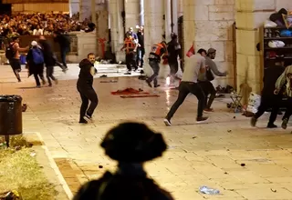
[[[162,42],[162,35],[164,35],[164,1],[160,0],[146,0],[144,1],[144,71],[146,74],[151,74],[150,66],[147,59],[151,50],[151,46]]]

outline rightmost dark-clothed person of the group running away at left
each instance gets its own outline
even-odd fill
[[[68,37],[68,35],[55,32],[54,40],[60,46],[61,59],[62,59],[62,63],[64,67],[68,68],[67,62],[66,62],[66,55],[70,52],[70,38]]]

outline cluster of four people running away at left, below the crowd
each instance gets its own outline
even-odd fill
[[[47,83],[48,86],[52,86],[52,80],[57,84],[57,79],[54,74],[54,66],[58,65],[62,68],[63,72],[68,70],[66,55],[70,51],[70,41],[68,36],[62,35],[61,33],[54,33],[55,42],[60,47],[60,55],[62,63],[57,61],[57,55],[53,51],[52,46],[47,42],[44,35],[39,36],[38,43],[32,41],[31,45],[26,47],[20,47],[19,37],[17,35],[12,37],[12,41],[6,46],[5,56],[11,65],[14,74],[18,82],[21,82],[19,73],[21,72],[21,61],[20,55],[22,53],[27,53],[26,55],[26,66],[28,68],[28,76],[34,75],[36,79],[36,87],[40,87],[41,79],[42,84],[46,85],[46,80],[44,78],[44,67],[47,67]]]

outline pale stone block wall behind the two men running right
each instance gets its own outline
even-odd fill
[[[214,85],[233,85],[233,28],[235,0],[184,0],[184,55],[192,45],[195,50],[213,47],[217,50],[215,63],[227,77],[216,77]]]

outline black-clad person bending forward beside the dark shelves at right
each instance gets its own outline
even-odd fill
[[[274,123],[276,121],[276,115],[279,110],[282,95],[275,95],[274,91],[276,80],[280,75],[282,75],[284,70],[285,67],[283,67],[280,63],[276,63],[276,65],[269,66],[265,69],[261,104],[259,105],[255,116],[251,118],[250,124],[252,126],[256,125],[257,119],[263,115],[268,108],[272,108],[272,112],[267,123],[267,128],[276,128]]]

